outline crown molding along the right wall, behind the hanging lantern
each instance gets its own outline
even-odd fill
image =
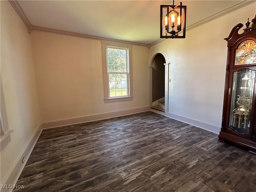
[[[235,11],[235,10],[238,10],[238,9],[240,9],[240,8],[242,8],[244,6],[247,6],[249,4],[252,4],[254,2],[255,2],[255,0],[243,0],[242,2],[238,2],[237,4],[234,4],[233,6],[230,6],[230,7],[226,8],[226,9],[216,13],[216,14],[213,14],[213,15],[207,17],[207,18],[204,18],[203,20],[200,20],[200,21],[198,21],[198,22],[196,22],[196,23],[194,23],[194,24],[192,24],[190,26],[187,26],[186,27],[186,31],[189,31],[189,30],[192,30],[194,28],[197,28],[198,26],[206,24],[206,23],[208,23],[208,22],[210,22],[212,20],[220,18],[220,17],[222,17],[222,16],[224,16],[226,14],[229,14],[229,13]],[[149,44],[149,47],[151,47],[153,45],[156,45],[156,44],[158,44],[158,43],[160,43],[160,42],[162,42],[164,40],[166,40],[166,39],[157,40],[157,41]]]

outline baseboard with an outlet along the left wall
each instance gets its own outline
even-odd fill
[[[22,155],[20,156],[20,158],[15,162],[15,166],[11,169],[11,173],[9,175],[9,177],[7,178],[7,180],[5,182],[3,182],[2,184],[12,184],[12,186],[14,186],[14,184],[16,184],[16,182],[18,181],[18,178],[20,177],[20,174],[22,172],[22,170],[24,169],[28,158],[30,156],[30,154],[32,153],[32,150],[34,149],[34,146],[36,145],[36,142],[40,136],[42,132],[42,124],[38,127],[38,130],[36,131],[36,133],[34,134],[33,138],[30,140],[28,146],[26,147],[25,151],[22,153]],[[25,162],[22,163],[22,158],[25,157]],[[12,192],[12,189],[1,189],[1,192]]]

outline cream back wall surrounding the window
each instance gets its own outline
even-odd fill
[[[133,46],[134,99],[104,103],[100,40],[36,31],[30,38],[40,114],[46,127],[78,123],[99,114],[148,109],[147,47]],[[108,116],[97,116],[104,117]]]

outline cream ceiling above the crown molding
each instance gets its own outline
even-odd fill
[[[160,5],[172,0],[20,0],[32,26],[152,44],[160,39]],[[175,1],[174,4],[178,4]],[[187,28],[241,0],[184,0]]]

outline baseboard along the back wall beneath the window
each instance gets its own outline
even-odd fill
[[[102,119],[108,119],[108,118],[113,118],[113,117],[118,117],[118,116],[124,116],[124,115],[129,115],[129,114],[145,112],[148,110],[149,110],[149,107],[142,107],[142,108],[128,109],[128,110],[102,113],[102,114],[83,116],[83,117],[76,117],[76,118],[70,118],[70,119],[64,119],[64,120],[57,120],[57,121],[52,121],[52,122],[44,122],[44,123],[42,123],[42,128],[47,129],[47,128],[79,124],[79,123],[84,123],[84,122],[90,122],[90,121],[96,121],[96,120],[102,120]]]

